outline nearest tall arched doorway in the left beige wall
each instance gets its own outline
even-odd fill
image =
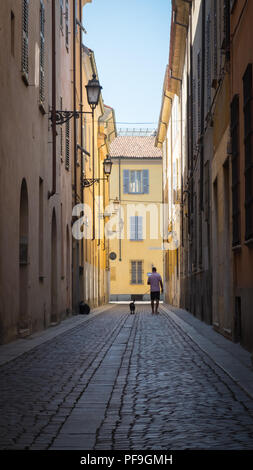
[[[29,210],[26,180],[23,179],[20,192],[19,210],[19,334],[29,333],[28,314],[28,242]]]

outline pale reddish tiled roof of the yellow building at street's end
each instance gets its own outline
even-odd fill
[[[155,137],[121,135],[112,141],[110,155],[112,158],[162,158],[162,151],[155,147]]]

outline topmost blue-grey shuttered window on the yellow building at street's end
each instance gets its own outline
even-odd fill
[[[149,170],[123,170],[123,192],[125,194],[148,194]]]

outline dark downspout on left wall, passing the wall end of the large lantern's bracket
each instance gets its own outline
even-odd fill
[[[56,193],[56,46],[55,46],[55,0],[52,0],[52,190],[48,199]]]

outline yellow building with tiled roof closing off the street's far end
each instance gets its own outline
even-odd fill
[[[154,141],[121,135],[110,145],[111,301],[148,300],[152,267],[163,276],[162,153]]]

